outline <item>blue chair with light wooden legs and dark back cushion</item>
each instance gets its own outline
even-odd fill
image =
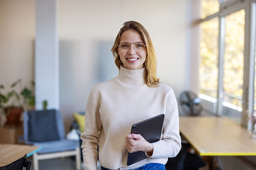
[[[39,169],[39,160],[66,156],[75,156],[76,169],[80,169],[79,143],[65,139],[64,125],[59,111],[25,111],[23,124],[25,143],[42,146],[40,151],[33,154],[34,170]]]

